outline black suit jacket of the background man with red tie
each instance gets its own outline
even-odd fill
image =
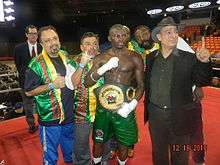
[[[41,53],[42,47],[40,44],[37,44],[37,53]],[[29,62],[31,61],[31,55],[28,48],[28,43],[24,42],[17,46],[14,49],[14,59],[15,65],[19,74],[19,84],[22,89],[24,89],[25,81],[25,71],[28,67]]]

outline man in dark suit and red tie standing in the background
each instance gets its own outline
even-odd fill
[[[37,43],[37,28],[34,25],[29,25],[25,29],[27,41],[17,45],[14,49],[15,65],[19,74],[19,84],[21,87],[21,96],[23,100],[23,108],[25,111],[26,121],[29,126],[29,132],[34,133],[37,127],[34,123],[34,100],[32,97],[27,97],[24,93],[25,71],[31,59],[37,56],[42,51],[42,47]]]

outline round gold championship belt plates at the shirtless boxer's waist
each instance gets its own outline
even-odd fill
[[[116,112],[125,101],[132,100],[134,96],[134,88],[129,87],[126,92],[123,92],[123,89],[116,85],[105,85],[98,93],[100,104],[112,112]]]

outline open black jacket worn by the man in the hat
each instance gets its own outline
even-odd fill
[[[148,121],[148,103],[150,90],[150,77],[154,60],[157,58],[159,50],[152,52],[146,58],[145,71],[145,99],[144,99],[144,121]],[[211,82],[212,67],[211,63],[202,63],[197,60],[195,54],[175,49],[173,75],[171,80],[171,107],[173,126],[175,130],[188,131],[187,129],[192,125],[190,117],[199,117],[196,106],[193,104],[192,86],[198,87],[207,86]],[[191,111],[195,110],[195,111]],[[197,114],[192,114],[193,112]],[[193,122],[193,121],[192,121]],[[185,127],[189,124],[189,127]],[[181,132],[180,132],[181,134]]]

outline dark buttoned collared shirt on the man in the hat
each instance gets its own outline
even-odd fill
[[[171,107],[171,81],[173,73],[173,56],[177,49],[167,57],[164,58],[161,52],[158,51],[158,56],[156,57],[151,77],[150,77],[150,102],[153,104],[169,108]]]

